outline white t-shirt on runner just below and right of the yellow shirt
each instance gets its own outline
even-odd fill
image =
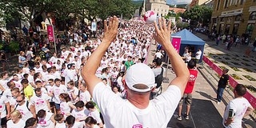
[[[30,98],[31,105],[34,105],[35,111],[38,114],[39,110],[48,111],[47,101],[50,100],[50,97],[47,94],[42,94],[41,97],[36,96],[35,94]]]

